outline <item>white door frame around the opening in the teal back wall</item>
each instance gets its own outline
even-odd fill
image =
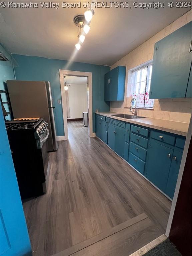
[[[68,128],[67,128],[67,103],[65,97],[64,90],[64,75],[69,76],[83,76],[87,77],[87,85],[89,88],[89,108],[88,108],[88,116],[89,116],[89,137],[94,137],[93,134],[93,103],[92,103],[92,73],[91,72],[80,72],[80,71],[72,71],[72,70],[59,70],[60,77],[60,87],[61,87],[61,99],[62,99],[62,109],[63,109],[63,124],[64,124],[64,133],[65,140],[68,140]]]

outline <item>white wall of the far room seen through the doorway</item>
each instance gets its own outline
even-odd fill
[[[71,84],[69,91],[70,118],[82,118],[82,112],[88,112],[87,84]]]

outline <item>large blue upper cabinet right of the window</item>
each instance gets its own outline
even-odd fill
[[[191,97],[190,43],[191,22],[155,43],[150,99]]]

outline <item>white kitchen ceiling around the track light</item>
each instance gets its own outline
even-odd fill
[[[79,28],[73,18],[85,10],[1,8],[1,43],[16,54],[112,65],[189,9],[95,8],[91,29],[81,49],[74,52]]]

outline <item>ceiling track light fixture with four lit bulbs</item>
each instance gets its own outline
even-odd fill
[[[80,28],[79,34],[78,34],[79,41],[75,45],[77,50],[81,48],[82,43],[85,41],[85,35],[89,33],[90,21],[94,14],[95,14],[94,10],[89,8],[89,10],[84,13],[84,15],[79,14],[75,16],[73,19],[75,25]],[[81,29],[83,29],[83,31]]]

